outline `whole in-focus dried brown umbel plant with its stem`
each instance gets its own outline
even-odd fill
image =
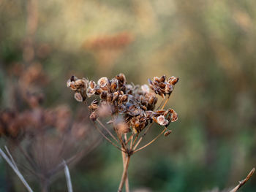
[[[124,183],[126,191],[129,191],[127,170],[131,156],[151,145],[162,134],[169,135],[171,130],[167,126],[178,119],[173,109],[164,109],[178,78],[167,78],[163,75],[148,82],[149,86],[128,84],[124,74],[118,74],[112,80],[102,77],[97,83],[75,76],[67,81],[67,87],[75,91],[75,99],[89,107],[90,119],[102,137],[122,153],[124,170],[118,187],[119,192],[122,191]],[[86,98],[94,95],[99,96],[99,99],[94,99],[88,104]],[[158,107],[157,95],[162,96]],[[100,118],[107,119],[106,124],[111,128],[105,126]],[[138,148],[154,123],[163,126],[161,132],[146,145]]]

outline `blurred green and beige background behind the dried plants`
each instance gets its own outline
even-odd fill
[[[1,110],[17,103],[12,89],[29,66],[47,76],[43,106],[66,104],[74,116],[72,74],[98,80],[122,72],[135,84],[174,75],[167,105],[178,121],[169,137],[133,156],[131,189],[235,186],[256,163],[255,10],[252,0],[0,0]],[[26,191],[2,159],[0,167],[0,191]],[[102,142],[71,168],[74,191],[116,191],[121,154]],[[67,191],[64,173],[50,191]],[[241,191],[256,191],[255,175]]]

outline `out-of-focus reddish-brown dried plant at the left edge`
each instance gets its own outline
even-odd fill
[[[17,73],[15,73],[18,69]],[[42,85],[48,79],[40,64],[10,69],[18,83],[10,84],[11,110],[0,111],[0,138],[10,149],[17,169],[33,175],[42,191],[61,170],[89,153],[101,141],[79,110],[75,118],[67,106],[42,107]]]

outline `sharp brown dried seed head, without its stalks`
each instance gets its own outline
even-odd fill
[[[122,73],[111,80],[108,77],[101,77],[97,83],[72,76],[67,81],[67,87],[75,91],[75,99],[80,102],[86,101],[87,97],[99,96],[89,105],[91,120],[95,121],[106,113],[112,116],[122,115],[126,125],[122,124],[121,130],[125,131],[119,132],[139,133],[152,121],[166,127],[178,119],[177,113],[172,109],[154,112],[157,95],[170,96],[178,78],[167,78],[163,75],[148,82],[149,86],[128,84]]]

